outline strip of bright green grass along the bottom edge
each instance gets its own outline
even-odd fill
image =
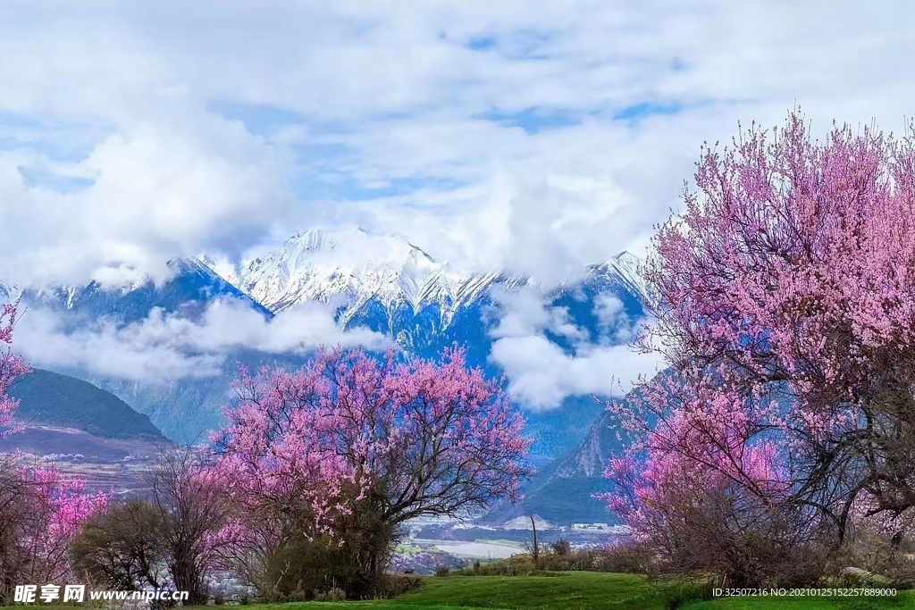
[[[664,610],[664,596],[643,578],[631,574],[588,572],[554,576],[429,577],[414,593],[372,602],[307,602],[251,605],[252,610]],[[697,602],[683,610],[915,610],[915,592],[896,598],[745,597]],[[23,606],[16,606],[23,610]],[[207,610],[213,610],[210,606]]]

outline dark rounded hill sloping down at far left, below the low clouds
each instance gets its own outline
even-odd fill
[[[16,380],[16,420],[28,425],[76,428],[105,438],[164,440],[149,417],[88,381],[33,369]]]

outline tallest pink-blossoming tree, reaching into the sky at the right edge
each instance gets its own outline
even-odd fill
[[[661,298],[642,347],[673,373],[612,407],[631,446],[610,507],[635,530],[679,468],[837,540],[862,492],[871,514],[915,506],[913,142],[815,142],[792,113],[704,148],[646,271]]]

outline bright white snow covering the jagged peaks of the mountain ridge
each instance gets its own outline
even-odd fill
[[[310,301],[346,305],[340,313],[342,326],[375,299],[390,313],[404,307],[418,313],[431,305],[438,311],[440,327],[445,328],[459,311],[476,303],[493,286],[513,292],[540,285],[535,278],[501,270],[461,273],[403,237],[371,235],[364,230],[302,231],[274,251],[241,264],[224,256],[199,254],[178,257],[168,266],[176,273],[199,273],[214,289],[229,284],[274,313]],[[643,302],[653,301],[642,278],[642,261],[630,252],[620,252],[583,271],[558,289],[598,275],[623,284]],[[103,289],[127,294],[149,281],[144,276]],[[87,288],[48,285],[38,288],[37,294],[69,308]],[[15,302],[21,294],[21,287],[0,283],[0,302]]]

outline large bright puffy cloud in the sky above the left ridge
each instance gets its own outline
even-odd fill
[[[23,167],[47,159],[0,154],[0,277],[83,284],[128,267],[161,277],[173,256],[264,230],[285,209],[272,146],[205,112],[150,117],[79,161],[50,164],[93,181],[76,192],[24,180]]]

